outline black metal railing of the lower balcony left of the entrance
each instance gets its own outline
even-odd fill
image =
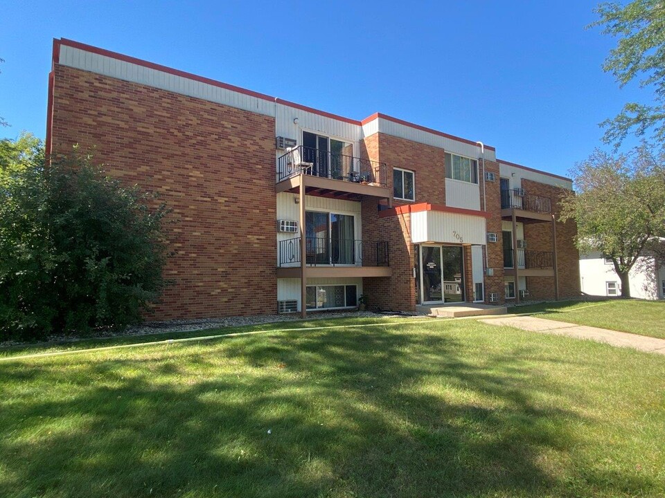
[[[388,241],[330,240],[305,238],[305,261],[308,265],[388,266]],[[300,237],[279,241],[279,266],[300,263]]]

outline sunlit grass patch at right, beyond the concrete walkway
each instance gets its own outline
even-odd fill
[[[540,318],[665,339],[665,301],[608,299],[515,306],[508,313],[542,313]]]

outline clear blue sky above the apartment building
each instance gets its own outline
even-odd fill
[[[0,116],[44,137],[52,39],[69,38],[362,119],[375,112],[557,174],[628,100],[596,1],[34,1],[0,19]],[[628,140],[626,145],[634,145]],[[604,147],[607,149],[608,147]]]

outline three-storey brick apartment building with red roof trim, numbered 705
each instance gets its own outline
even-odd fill
[[[474,140],[57,39],[46,148],[74,144],[173,208],[157,319],[580,293],[571,181]]]

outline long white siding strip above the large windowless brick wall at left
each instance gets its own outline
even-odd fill
[[[118,80],[145,84],[154,88],[209,100],[210,102],[237,107],[265,116],[275,116],[275,103],[270,100],[139,66],[106,55],[87,52],[64,44],[60,46],[60,64],[114,77]]]

